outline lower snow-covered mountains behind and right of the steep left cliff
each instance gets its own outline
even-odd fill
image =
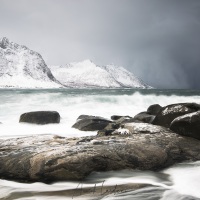
[[[73,88],[151,88],[131,72],[114,65],[97,66],[90,60],[65,66],[51,66],[63,85]]]

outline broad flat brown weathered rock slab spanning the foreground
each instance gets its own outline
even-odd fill
[[[158,128],[160,132],[153,134],[146,129],[145,134],[134,131],[82,138],[35,135],[0,140],[0,178],[30,182],[83,180],[93,171],[159,170],[200,159],[199,140],[168,129]]]

